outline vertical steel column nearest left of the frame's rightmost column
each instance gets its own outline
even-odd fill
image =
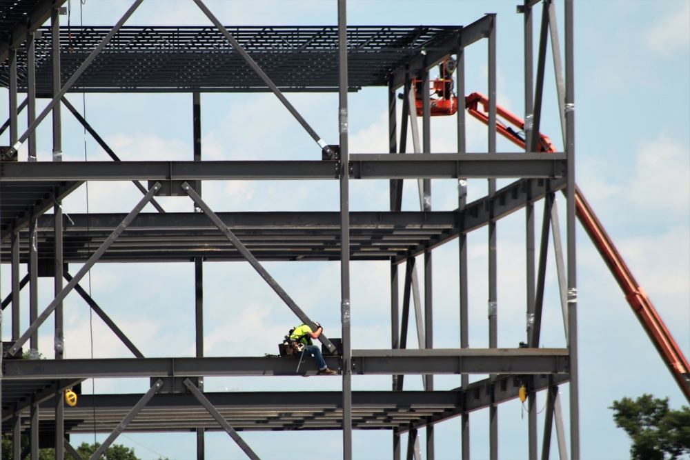
[[[532,91],[532,69],[533,63],[533,39],[532,39],[532,6],[529,0],[524,0],[523,7],[524,14],[524,119],[532,118],[534,107],[533,91]],[[526,132],[525,151],[531,145],[531,131]],[[531,190],[528,190],[528,193]],[[531,197],[530,197],[531,198]],[[525,206],[525,236],[526,236],[526,252],[527,252],[527,266],[526,266],[526,288],[527,288],[527,343],[528,346],[533,346],[530,343],[531,326],[535,321],[535,238],[534,238],[534,204],[527,201]],[[537,395],[528,386],[527,394],[527,423],[528,423],[528,450],[529,458],[535,460],[537,458],[537,411],[535,410]]]

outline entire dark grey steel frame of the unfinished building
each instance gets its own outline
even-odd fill
[[[12,270],[10,290],[3,286],[3,310],[10,312],[12,337],[3,341],[0,392],[1,429],[14,439],[30,434],[30,454],[37,458],[39,442],[64,446],[75,458],[66,434],[90,432],[93,422],[64,406],[63,391],[79,388],[91,377],[150,377],[143,395],[81,395],[98,411],[101,428],[110,432],[97,457],[123,430],[197,432],[197,457],[204,458],[204,431],[224,430],[250,458],[258,458],[242,440],[243,430],[320,430],[343,433],[343,457],[352,454],[353,429],[391,430],[393,456],[402,456],[400,439],[408,435],[407,458],[418,457],[418,430],[426,429],[426,457],[434,458],[434,426],[460,416],[462,457],[469,458],[470,412],[488,408],[490,453],[499,457],[497,407],[520,396],[524,385],[529,406],[529,458],[538,457],[536,393],[544,391],[547,416],[542,439],[542,458],[549,457],[551,428],[555,423],[561,457],[567,457],[566,434],[560,412],[558,386],[569,383],[570,457],[580,457],[578,401],[577,283],[575,279],[575,178],[573,92],[573,2],[564,0],[564,66],[560,58],[554,3],[524,0],[525,127],[526,151],[499,154],[496,150],[496,17],[487,14],[469,26],[391,27],[349,26],[346,0],[338,0],[338,24],[331,27],[225,28],[201,0],[193,0],[214,27],[137,28],[124,26],[142,0],[135,0],[114,28],[75,28],[68,36],[61,27],[59,9],[65,0],[0,0],[11,12],[0,21],[0,62],[7,70],[0,84],[8,88],[9,117],[1,131],[9,129],[10,145],[0,163],[0,261]],[[538,57],[533,60],[533,8],[542,3]],[[49,28],[41,26],[50,17]],[[551,37],[559,112],[564,133],[564,152],[538,152],[542,91],[546,73],[546,41]],[[464,111],[457,112],[457,152],[431,152],[431,100],[422,96],[422,134],[417,117],[413,79],[428,87],[429,70],[451,55],[457,61],[457,94],[464,94],[464,49],[485,43],[489,68],[488,149],[466,152]],[[80,53],[60,52],[68,47]],[[424,50],[424,52],[420,52]],[[88,54],[88,56],[87,56]],[[152,66],[158,69],[151,72]],[[318,66],[319,72],[315,72]],[[115,69],[126,68],[126,72]],[[199,69],[186,72],[186,69]],[[532,69],[536,68],[536,77]],[[181,71],[175,71],[179,69]],[[195,145],[193,161],[120,161],[66,99],[80,77],[84,92],[186,92],[193,94]],[[86,83],[84,83],[86,82]],[[388,88],[390,154],[348,152],[348,93],[367,86]],[[396,92],[403,90],[401,126],[397,126]],[[321,158],[315,161],[201,161],[201,92],[273,92],[290,114],[317,143]],[[337,91],[339,94],[339,141],[328,145],[290,105],[284,92]],[[18,95],[26,92],[26,101]],[[48,106],[36,113],[36,99],[48,98]],[[103,147],[112,162],[62,162],[61,106],[65,106]],[[17,117],[28,112],[28,129],[18,131]],[[407,114],[410,114],[408,120]],[[53,126],[53,161],[36,161],[35,128],[48,116]],[[413,129],[415,155],[405,155],[408,123]],[[398,135],[400,134],[400,139]],[[421,142],[420,142],[421,140]],[[18,161],[17,151],[28,143],[28,161]],[[519,179],[497,190],[496,179]],[[457,210],[431,210],[431,179],[457,179],[460,197]],[[488,179],[488,192],[468,203],[467,179]],[[204,181],[235,179],[328,179],[339,181],[339,212],[214,212],[201,198]],[[360,179],[390,179],[388,212],[351,212],[349,183]],[[402,181],[417,179],[420,212],[401,212]],[[134,181],[144,196],[128,214],[70,214],[70,226],[61,200],[85,181]],[[141,182],[140,182],[141,181]],[[566,241],[562,250],[558,214],[553,197],[567,197]],[[188,196],[197,212],[167,213],[155,196]],[[536,250],[534,203],[544,200],[540,250]],[[152,203],[159,213],[142,213]],[[527,330],[524,348],[497,348],[497,253],[498,221],[525,210]],[[52,211],[52,214],[47,212]],[[489,347],[469,348],[467,296],[467,235],[489,229]],[[566,348],[540,348],[540,328],[546,248],[553,227],[555,258],[561,280],[566,323]],[[39,229],[41,230],[39,232]],[[46,231],[51,229],[50,231]],[[433,299],[431,296],[433,249],[457,239],[460,279],[460,346],[433,348]],[[150,244],[156,241],[157,244]],[[206,250],[211,244],[213,254]],[[97,249],[95,249],[97,248]],[[565,252],[566,254],[564,254]],[[538,260],[534,254],[538,253]],[[423,263],[416,257],[424,256]],[[197,286],[197,343],[195,357],[146,358],[126,337],[79,282],[99,261],[194,261]],[[264,261],[340,261],[342,349],[325,336],[331,368],[342,373],[342,392],[316,392],[308,398],[289,392],[204,392],[203,376],[270,376],[315,374],[313,366],[297,372],[294,361],[283,358],[204,357],[201,278],[204,261],[248,261],[305,323],[313,323],[263,268]],[[391,349],[358,350],[351,343],[351,261],[390,261]],[[565,262],[566,261],[566,262]],[[70,274],[69,263],[83,263]],[[20,266],[28,272],[21,277]],[[404,268],[403,268],[404,267]],[[420,298],[417,273],[424,282]],[[55,299],[39,310],[37,281],[51,277]],[[403,299],[400,299],[400,281]],[[21,278],[21,279],[20,279]],[[66,283],[65,283],[66,281]],[[19,291],[30,290],[30,326],[19,327]],[[62,301],[72,290],[106,321],[134,358],[63,359]],[[11,308],[10,308],[11,305]],[[422,308],[423,306],[423,308]],[[402,307],[402,308],[401,308]],[[420,349],[408,349],[411,314],[417,324]],[[8,315],[5,314],[7,317]],[[23,350],[38,351],[37,330],[55,318],[55,359],[17,359]],[[423,317],[423,321],[422,321]],[[0,332],[1,333],[1,332]],[[355,344],[356,345],[356,344]],[[391,375],[391,391],[352,390],[353,375]],[[424,376],[424,391],[403,391],[404,375]],[[433,376],[460,374],[462,384],[453,390],[436,390]],[[469,383],[469,374],[489,378]],[[184,398],[190,392],[194,399]],[[267,399],[268,397],[268,399]],[[268,400],[268,403],[266,402]],[[302,412],[297,413],[297,409]],[[171,414],[184,414],[184,420]],[[14,458],[20,458],[19,442]]]

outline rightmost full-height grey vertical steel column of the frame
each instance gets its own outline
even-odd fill
[[[575,252],[575,71],[573,63],[573,0],[565,0],[566,144],[568,163],[568,328],[570,350],[570,442],[571,458],[580,459],[580,378],[578,366],[578,283]]]

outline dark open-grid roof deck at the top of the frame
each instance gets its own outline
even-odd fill
[[[52,92],[50,28],[36,40],[37,94]],[[228,27],[230,34],[282,91],[337,91],[337,27]],[[65,83],[110,32],[106,27],[61,29]],[[460,33],[457,26],[349,26],[350,90],[386,86],[396,69]],[[446,42],[447,43],[447,42]],[[448,48],[448,46],[445,46]],[[450,50],[449,50],[450,52]],[[17,55],[26,91],[26,51]],[[8,87],[8,74],[0,74]],[[253,92],[268,87],[213,27],[124,26],[92,61],[72,92]]]

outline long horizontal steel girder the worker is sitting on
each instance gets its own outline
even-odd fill
[[[567,374],[566,348],[353,350],[353,374]],[[339,357],[324,357],[339,368]],[[307,360],[269,357],[3,360],[3,379],[314,375]]]

